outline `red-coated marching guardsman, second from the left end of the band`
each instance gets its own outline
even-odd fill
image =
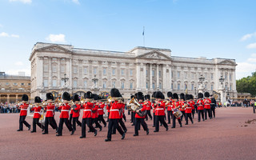
[[[41,123],[39,123],[39,118],[41,118],[40,111],[42,110],[42,106],[39,106],[39,103],[41,103],[41,98],[36,96],[34,98],[34,103],[35,103],[36,106],[31,108],[31,110],[34,110],[33,130],[30,133],[34,133],[34,132],[37,131],[36,125],[38,125],[42,129],[42,131],[44,130],[44,126]]]

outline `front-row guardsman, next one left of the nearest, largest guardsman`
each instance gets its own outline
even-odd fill
[[[94,129],[91,123],[91,114],[94,103],[90,101],[92,101],[93,95],[90,91],[88,91],[84,97],[86,98],[86,102],[83,106],[81,106],[81,108],[84,108],[84,110],[82,115],[82,136],[80,138],[86,138],[86,125],[89,127],[89,130],[94,132],[94,136],[97,135],[97,130]]]

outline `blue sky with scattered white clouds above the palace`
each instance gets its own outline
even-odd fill
[[[30,75],[36,42],[182,57],[234,58],[237,79],[256,70],[254,0],[0,0],[0,70]]]

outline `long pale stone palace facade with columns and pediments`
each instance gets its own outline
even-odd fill
[[[31,98],[44,98],[47,92],[62,94],[63,90],[82,95],[95,87],[93,79],[97,79],[99,92],[116,87],[125,98],[154,90],[195,95],[199,84],[210,93],[223,88],[230,97],[237,96],[234,59],[175,57],[169,49],[142,46],[118,52],[38,42],[30,62]],[[204,78],[201,83],[200,77]]]

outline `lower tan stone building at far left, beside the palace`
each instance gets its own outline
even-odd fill
[[[0,102],[19,102],[22,94],[30,98],[30,77],[0,73]]]

